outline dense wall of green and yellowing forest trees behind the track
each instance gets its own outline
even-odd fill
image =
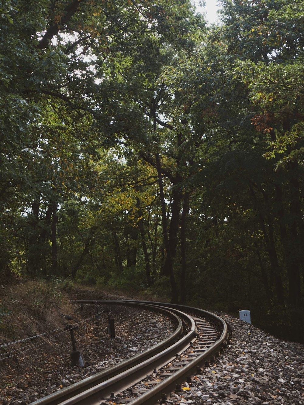
[[[302,0],[0,1],[0,275],[304,333]]]

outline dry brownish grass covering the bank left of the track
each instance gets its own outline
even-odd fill
[[[136,296],[124,294],[119,291],[105,291],[94,287],[73,285],[69,290],[62,290],[62,285],[58,282],[47,281],[18,281],[5,288],[0,286],[0,307],[7,307],[12,312],[7,316],[2,316],[0,324],[0,345],[5,345],[13,341],[26,339],[45,333],[51,330],[63,328],[71,322],[77,322],[79,318],[79,308],[71,303],[73,299],[135,299],[156,301],[155,297]],[[154,299],[153,299],[154,298]],[[78,312],[78,313],[77,313]],[[71,315],[73,321],[69,322],[62,316],[63,314]],[[81,315],[82,316],[82,315]],[[55,356],[55,344],[47,336],[34,339],[45,341],[45,344],[39,346],[36,350],[26,352],[22,361],[14,364],[17,358],[10,358],[8,361],[1,362],[1,357],[11,350],[22,352],[23,347],[29,341],[19,344],[0,347],[0,375],[7,373],[9,370],[13,373],[17,369],[24,369],[29,362],[35,358],[37,363],[43,364],[44,357]],[[69,347],[71,345],[68,333],[59,334],[56,341]],[[43,352],[41,352],[41,350]],[[65,350],[64,350],[65,351]],[[2,354],[2,356],[1,356]],[[4,355],[5,354],[5,355]],[[18,358],[20,359],[20,355]],[[5,371],[6,370],[6,371]],[[20,371],[20,370],[19,370]]]

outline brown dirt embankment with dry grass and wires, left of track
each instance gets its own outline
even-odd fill
[[[22,281],[10,286],[0,286],[0,310],[8,312],[0,315],[0,379],[3,381],[26,373],[32,364],[36,365],[38,371],[43,370],[46,359],[54,365],[70,361],[71,337],[69,333],[62,333],[62,328],[96,313],[92,307],[81,312],[79,305],[73,305],[71,300],[120,298],[126,298],[126,294],[119,292],[113,294],[77,285],[66,288],[65,284],[56,282]],[[150,299],[142,296],[128,296],[128,298]],[[54,332],[7,345],[49,331]],[[86,334],[81,332],[80,328],[75,333],[79,345],[86,345]],[[38,342],[41,345],[37,345]],[[58,345],[60,345],[59,352],[62,353],[60,355]],[[33,350],[33,346],[37,348]],[[17,353],[18,356],[15,356]],[[4,357],[7,360],[2,360]],[[3,389],[3,382],[0,382],[0,388]]]

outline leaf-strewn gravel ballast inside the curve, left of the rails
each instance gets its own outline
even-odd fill
[[[149,349],[176,329],[172,321],[162,313],[122,305],[108,306],[111,310],[110,317],[115,321],[115,338],[111,339],[107,333],[107,312],[103,307],[100,308],[103,313],[99,320],[93,317],[88,322],[79,324],[75,333],[77,349],[83,354],[85,367],[71,367],[71,339],[66,339],[65,342],[55,339],[51,342],[53,352],[57,353],[56,357],[44,354],[44,345],[18,354],[16,359],[11,358],[0,370],[0,405],[27,405],[34,402]],[[79,313],[79,318],[89,318],[92,312],[94,313],[94,309],[88,305]],[[73,323],[75,320],[69,322]],[[46,346],[48,343],[50,342],[46,341]]]

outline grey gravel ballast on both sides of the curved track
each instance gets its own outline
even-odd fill
[[[86,360],[84,368],[70,367],[67,364],[69,356],[66,356],[65,364],[54,370],[45,367],[48,372],[39,378],[37,372],[36,378],[30,372],[27,377],[20,375],[18,383],[15,379],[15,386],[2,391],[0,404],[26,405],[33,402],[148,349],[174,329],[165,316],[150,311],[117,307],[112,315],[116,319],[117,337],[109,339],[106,334],[98,335],[88,350],[82,347]],[[272,337],[231,315],[217,315],[231,330],[228,348],[214,364],[203,369],[201,375],[192,377],[191,384],[181,382],[182,389],[172,392],[167,403],[304,404],[304,345]],[[98,323],[92,328],[104,329]]]

